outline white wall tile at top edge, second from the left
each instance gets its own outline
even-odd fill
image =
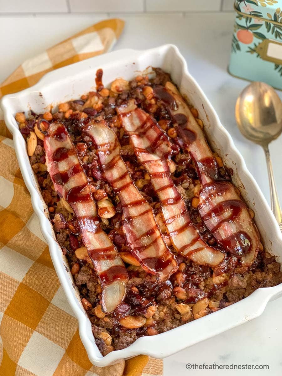
[[[71,12],[143,12],[143,0],[69,0]]]

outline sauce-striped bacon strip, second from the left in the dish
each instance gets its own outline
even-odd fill
[[[97,146],[103,174],[118,195],[124,215],[123,232],[140,265],[159,279],[177,270],[177,262],[156,225],[150,204],[133,184],[120,156],[120,144],[105,122],[90,121],[83,129]]]

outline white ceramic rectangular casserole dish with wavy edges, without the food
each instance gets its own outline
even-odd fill
[[[116,350],[102,356],[98,350],[91,331],[91,323],[80,302],[79,294],[74,288],[73,278],[67,271],[67,259],[55,240],[52,225],[48,219],[45,205],[33,175],[26,153],[26,142],[22,137],[14,115],[19,111],[30,109],[44,112],[48,105],[56,105],[94,88],[94,77],[98,68],[103,68],[103,83],[108,85],[117,77],[132,79],[136,71],[146,67],[161,67],[171,74],[182,94],[199,111],[205,124],[205,130],[214,151],[223,157],[224,163],[233,168],[233,182],[237,185],[249,207],[255,212],[256,224],[261,232],[265,249],[282,259],[282,234],[276,220],[259,189],[258,184],[247,170],[246,164],[233,144],[233,141],[221,125],[220,120],[206,98],[205,94],[190,76],[186,62],[174,45],[164,45],[145,51],[120,50],[100,55],[46,74],[35,86],[3,97],[1,106],[5,122],[13,134],[15,151],[26,186],[31,194],[33,208],[38,215],[42,234],[49,244],[53,264],[64,288],[68,302],[79,321],[79,333],[90,361],[100,367],[113,364],[121,359],[138,354],[164,358],[188,346],[217,335],[227,329],[245,323],[258,315],[266,303],[282,294],[282,284],[270,288],[260,288],[238,303],[220,311],[209,314],[191,323],[184,324],[166,333],[152,337],[142,337],[123,350]]]

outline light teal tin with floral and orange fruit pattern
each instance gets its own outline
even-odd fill
[[[282,89],[282,0],[236,0],[229,73]]]

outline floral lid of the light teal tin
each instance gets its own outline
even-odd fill
[[[282,0],[236,0],[234,8],[248,17],[278,22],[282,27]]]

